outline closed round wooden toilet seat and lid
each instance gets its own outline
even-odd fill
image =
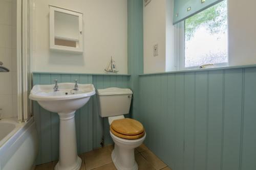
[[[131,118],[114,120],[110,130],[114,135],[123,139],[139,139],[145,134],[143,125]]]

